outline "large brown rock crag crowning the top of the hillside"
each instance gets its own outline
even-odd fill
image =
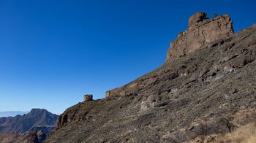
[[[203,45],[233,35],[232,20],[229,15],[206,19],[206,12],[197,12],[189,18],[189,29],[178,34],[169,50],[165,63],[192,53]]]

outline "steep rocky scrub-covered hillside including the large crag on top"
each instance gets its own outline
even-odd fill
[[[228,15],[197,12],[162,66],[106,98],[69,107],[45,142],[253,140],[241,128],[255,128],[255,59],[256,25],[233,34]]]

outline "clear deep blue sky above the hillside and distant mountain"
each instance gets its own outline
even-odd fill
[[[198,11],[256,23],[255,0],[1,0],[0,111],[61,114],[160,66]]]

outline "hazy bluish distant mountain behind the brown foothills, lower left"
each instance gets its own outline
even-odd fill
[[[26,115],[0,117],[0,134],[23,134],[36,129],[48,134],[55,128],[57,117],[46,109],[31,109]]]

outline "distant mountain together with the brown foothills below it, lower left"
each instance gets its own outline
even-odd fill
[[[56,128],[58,115],[31,109],[24,115],[0,117],[0,142],[42,142]]]

